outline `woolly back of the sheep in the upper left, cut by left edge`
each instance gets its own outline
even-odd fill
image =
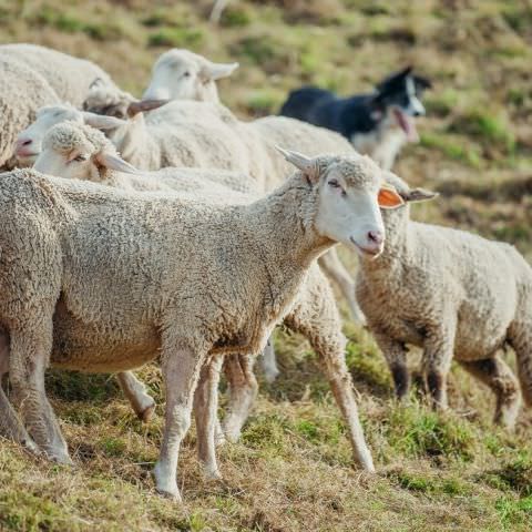
[[[0,45],[0,170],[14,166],[16,135],[39,108],[61,101],[81,105],[91,85],[115,86],[90,61],[34,44]]]

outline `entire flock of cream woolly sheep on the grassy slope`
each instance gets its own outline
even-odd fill
[[[311,120],[239,119],[217,86],[237,68],[168,50],[136,98],[91,61],[0,45],[0,377],[11,389],[0,388],[0,436],[72,464],[45,370],[115,374],[150,423],[155,402],[134,371],[155,361],[165,389],[155,488],[181,501],[192,416],[201,470],[219,479],[216,451],[241,437],[255,372],[273,382],[282,371],[272,335],[284,326],[316,352],[355,467],[378,473],[339,303],[375,337],[398,400],[409,400],[415,346],[433,409],[449,408],[457,360],[512,430],[532,405],[531,266],[509,244],[410,218],[410,203],[437,194],[389,167],[406,136],[379,164],[378,135],[364,144],[362,133],[355,142]],[[416,105],[415,116],[424,112]]]

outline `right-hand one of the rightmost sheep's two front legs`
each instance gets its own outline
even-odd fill
[[[449,406],[447,376],[451,368],[454,332],[454,323],[449,323],[446,328],[428,331],[424,340],[423,374],[432,399],[432,407],[437,410],[446,409]]]

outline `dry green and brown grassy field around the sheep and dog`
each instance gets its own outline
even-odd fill
[[[530,0],[234,0],[217,28],[207,22],[211,3],[0,0],[0,42],[90,58],[135,94],[170,47],[237,60],[221,95],[242,117],[277,112],[300,83],[358,92],[412,63],[434,88],[421,142],[397,173],[441,192],[415,217],[508,241],[532,262]],[[200,477],[191,431],[180,461],[183,507],[153,490],[161,406],[143,426],[110,377],[51,371],[75,467],[2,441],[0,530],[530,531],[530,413],[514,434],[492,427],[493,398],[459,368],[452,411],[433,413],[416,391],[399,406],[371,337],[350,323],[346,334],[377,475],[351,468],[313,352],[279,331],[283,376],[263,383],[242,442],[221,449],[223,481]],[[161,405],[158,370],[142,376]]]

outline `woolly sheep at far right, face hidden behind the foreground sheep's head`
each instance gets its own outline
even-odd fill
[[[505,344],[518,357],[519,379],[532,403],[532,268],[516,249],[463,231],[412,222],[410,202],[433,193],[391,183],[407,204],[385,212],[387,244],[362,259],[357,296],[385,355],[396,395],[409,389],[406,344],[423,348],[423,372],[436,408],[446,408],[452,357],[497,396],[494,421],[512,428],[520,397],[499,357]]]

